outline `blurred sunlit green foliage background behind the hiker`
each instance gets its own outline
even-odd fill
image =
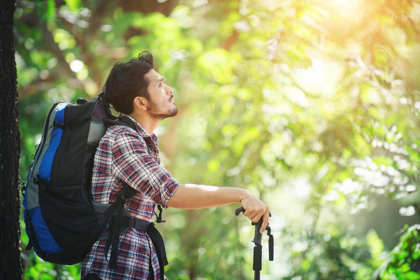
[[[53,102],[148,50],[178,107],[162,165],[270,207],[261,279],[420,279],[419,21],[417,0],[18,0],[21,177]],[[170,280],[253,279],[237,207],[163,212]],[[24,279],[80,278],[24,227]]]

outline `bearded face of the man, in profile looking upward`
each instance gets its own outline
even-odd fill
[[[155,120],[173,117],[178,113],[173,100],[172,88],[163,83],[163,77],[151,69],[144,75],[150,81],[147,91],[150,95],[147,112]],[[171,101],[170,101],[171,100]]]

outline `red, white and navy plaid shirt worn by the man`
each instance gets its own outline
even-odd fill
[[[126,126],[109,126],[95,153],[92,173],[92,199],[100,203],[112,203],[118,191],[128,183],[139,192],[124,207],[131,217],[152,222],[157,206],[166,204],[180,185],[165,168],[160,166],[157,144],[159,139],[147,131],[134,118],[137,132]],[[147,153],[150,149],[151,157]],[[141,230],[130,228],[120,236],[115,270],[110,270],[105,259],[106,240],[96,241],[81,264],[81,278],[96,273],[101,279],[147,280],[151,258],[155,279],[160,279],[157,254],[150,237]],[[112,246],[111,246],[112,247]],[[110,259],[111,248],[108,252]],[[168,278],[165,276],[165,280]]]

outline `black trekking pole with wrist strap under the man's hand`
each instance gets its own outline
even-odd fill
[[[245,212],[244,207],[239,207],[235,210],[235,215],[238,216],[241,212]],[[271,213],[269,212],[269,216],[271,217]],[[254,270],[254,280],[260,280],[260,271],[261,271],[261,263],[262,263],[262,244],[261,238],[262,234],[260,233],[260,229],[262,226],[262,217],[261,219],[255,223],[251,222],[251,225],[255,225],[255,234],[254,234],[254,259],[252,263],[252,269]],[[267,224],[267,236],[268,238],[268,259],[272,261],[274,259],[274,238],[271,234],[271,228]]]

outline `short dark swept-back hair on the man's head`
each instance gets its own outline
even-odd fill
[[[144,74],[153,68],[153,55],[148,51],[141,52],[127,62],[115,63],[102,88],[115,111],[124,114],[133,112],[133,100],[137,96],[150,100],[147,92],[150,81]]]

